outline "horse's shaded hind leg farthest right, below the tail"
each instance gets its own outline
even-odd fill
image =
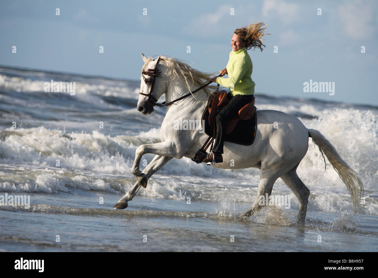
[[[281,176],[283,182],[294,192],[295,196],[299,200],[299,213],[297,224],[300,226],[305,225],[308,196],[310,196],[310,189],[308,189],[301,179],[297,175],[297,167],[290,170],[286,174]]]

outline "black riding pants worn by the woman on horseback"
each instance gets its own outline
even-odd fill
[[[213,152],[223,154],[224,130],[227,121],[231,120],[239,110],[246,104],[253,101],[253,95],[235,95],[228,92],[229,103],[215,117],[215,142]]]

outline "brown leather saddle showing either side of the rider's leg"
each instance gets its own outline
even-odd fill
[[[209,100],[207,109],[209,112],[209,125],[212,131],[214,131],[214,120],[218,111],[222,110],[222,108],[225,107],[228,102],[229,99],[227,98],[227,93],[225,90],[216,92],[215,95]],[[239,121],[250,120],[254,113],[256,113],[255,97],[253,97],[253,101],[243,106],[239,110],[238,114],[226,123],[225,135],[230,134]]]

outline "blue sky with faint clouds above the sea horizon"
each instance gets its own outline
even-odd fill
[[[258,21],[270,35],[248,50],[255,95],[378,106],[376,0],[0,0],[0,66],[139,81],[144,53],[215,73],[235,29]],[[304,92],[310,80],[334,91]]]

